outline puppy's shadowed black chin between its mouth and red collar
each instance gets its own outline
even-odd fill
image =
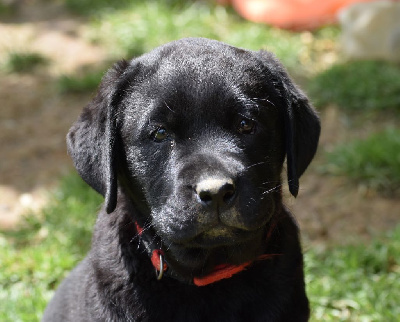
[[[265,229],[246,232],[239,238],[211,231],[183,244],[171,243],[165,259],[174,275],[191,281],[210,274],[221,264],[251,262],[263,254],[265,247]]]

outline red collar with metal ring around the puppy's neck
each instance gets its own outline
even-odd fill
[[[137,222],[135,222],[137,232],[139,236],[142,236],[143,228],[139,226]],[[271,225],[268,234],[267,240],[270,239],[273,230],[275,229],[277,223]],[[146,245],[145,245],[146,246]],[[146,248],[148,248],[146,246]],[[149,251],[149,250],[148,250]],[[274,256],[281,255],[281,254],[263,254],[257,257],[256,261],[259,260],[266,260],[270,259]],[[164,252],[162,249],[153,249],[151,251],[151,263],[153,264],[154,268],[156,269],[157,279],[160,280],[164,274],[164,272],[168,269],[167,263],[164,261]],[[196,286],[206,286],[215,282],[218,282],[222,279],[230,278],[233,275],[242,272],[248,266],[253,264],[252,261],[246,262],[240,265],[230,265],[230,264],[221,264],[214,268],[214,270],[203,277],[194,277],[193,284]]]

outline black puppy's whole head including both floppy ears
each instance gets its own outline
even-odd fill
[[[183,39],[116,64],[68,148],[107,212],[120,187],[134,219],[161,238],[169,265],[193,276],[263,252],[285,156],[296,196],[319,132],[272,54]]]

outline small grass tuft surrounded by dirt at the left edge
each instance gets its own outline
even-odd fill
[[[10,52],[5,60],[5,70],[9,73],[29,73],[39,66],[44,66],[49,60],[35,52]]]

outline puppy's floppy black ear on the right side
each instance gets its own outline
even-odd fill
[[[289,190],[299,192],[299,178],[317,151],[321,125],[306,95],[293,83],[280,61],[270,52],[259,54],[270,81],[277,88],[284,104],[286,161]]]

